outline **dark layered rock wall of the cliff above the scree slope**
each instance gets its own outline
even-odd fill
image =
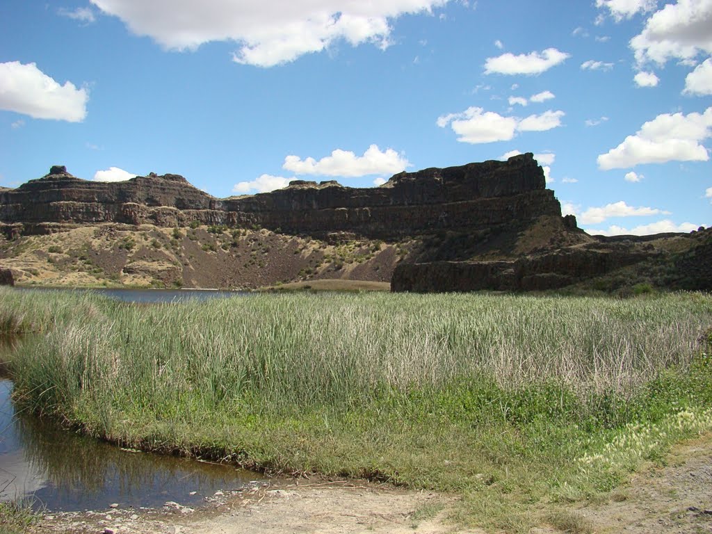
[[[0,190],[0,221],[21,223],[256,225],[292,234],[347,232],[392,239],[438,230],[469,231],[542,215],[560,216],[533,155],[446,169],[402,172],[377,188],[296,180],[271,193],[216,199],[177,174],[88,182],[65,167],[17,189]]]

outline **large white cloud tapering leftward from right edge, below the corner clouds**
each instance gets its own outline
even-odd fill
[[[701,141],[712,135],[712,108],[703,113],[665,113],[642,125],[616,148],[598,157],[603,170],[624,169],[640,163],[702,161],[709,159]]]

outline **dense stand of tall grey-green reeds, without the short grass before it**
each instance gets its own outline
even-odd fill
[[[626,395],[687,365],[712,323],[712,298],[695,294],[287,294],[154,306],[42,298],[51,305],[12,303],[17,315],[41,316],[32,324],[61,325],[15,362],[18,385],[41,392],[44,407],[100,394],[156,412],[244,399],[347,406],[481,377],[504,389],[553,381]]]

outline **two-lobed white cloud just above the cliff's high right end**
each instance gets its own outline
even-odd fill
[[[467,108],[460,113],[438,117],[441,128],[450,125],[458,141],[472,144],[511,140],[517,132],[543,132],[561,125],[562,111],[545,111],[540,115],[503,117],[482,108]]]

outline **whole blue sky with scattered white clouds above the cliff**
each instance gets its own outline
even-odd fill
[[[534,152],[595,233],[712,225],[712,0],[6,0],[0,184],[216,197]]]

